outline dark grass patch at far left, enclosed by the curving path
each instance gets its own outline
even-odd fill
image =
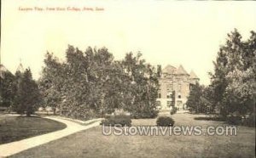
[[[65,124],[41,117],[0,116],[0,144],[64,129]]]

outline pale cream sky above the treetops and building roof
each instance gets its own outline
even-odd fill
[[[106,47],[115,59],[140,51],[152,65],[183,65],[207,85],[227,33],[236,28],[246,40],[256,31],[255,8],[242,1],[3,0],[1,64],[15,73],[21,59],[38,79],[47,51],[64,60],[68,44]]]

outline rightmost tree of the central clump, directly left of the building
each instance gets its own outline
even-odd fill
[[[126,106],[125,110],[137,117],[154,117],[157,116],[156,99],[160,66],[155,69],[154,66],[146,64],[141,57],[140,53],[135,57],[130,53],[126,54],[122,61],[128,78],[128,87],[125,91],[128,98],[125,99],[125,103],[129,106]]]

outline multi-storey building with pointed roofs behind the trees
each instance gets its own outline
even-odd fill
[[[192,85],[199,82],[194,71],[190,74],[180,65],[178,68],[167,65],[160,76],[160,90],[158,92],[157,107],[159,110],[186,110],[187,97]]]

